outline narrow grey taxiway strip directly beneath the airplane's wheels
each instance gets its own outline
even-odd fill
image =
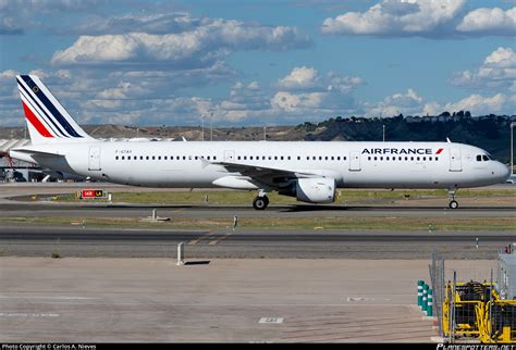
[[[451,210],[447,207],[430,205],[270,205],[267,210],[255,210],[236,205],[163,205],[163,204],[108,204],[108,203],[0,203],[0,217],[57,216],[57,217],[145,217],[152,209],[168,217],[324,217],[339,216],[402,216],[402,217],[506,217],[516,215],[515,207],[468,205]]]

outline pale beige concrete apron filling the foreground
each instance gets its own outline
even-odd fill
[[[428,279],[426,260],[197,263],[0,258],[0,342],[429,342],[435,336],[415,307],[417,280]],[[489,276],[493,262],[446,264]]]

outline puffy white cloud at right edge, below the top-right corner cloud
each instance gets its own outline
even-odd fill
[[[475,72],[455,73],[452,85],[486,89],[509,89],[516,80],[516,52],[511,48],[500,47],[486,58],[483,64]]]

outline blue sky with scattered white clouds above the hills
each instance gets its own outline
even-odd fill
[[[79,124],[512,115],[515,39],[516,0],[0,0],[0,126],[16,74]]]

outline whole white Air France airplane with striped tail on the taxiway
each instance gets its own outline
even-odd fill
[[[339,188],[442,188],[504,183],[508,168],[474,146],[455,142],[101,141],[87,135],[35,75],[17,75],[32,145],[10,155],[109,183],[162,188],[257,190],[308,203],[332,203]]]

